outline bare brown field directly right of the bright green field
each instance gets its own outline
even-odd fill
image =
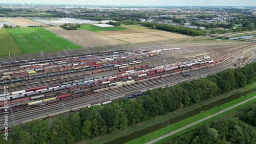
[[[46,27],[45,29],[83,47],[116,45],[126,43],[115,38],[111,38],[87,30],[68,31],[59,27]]]

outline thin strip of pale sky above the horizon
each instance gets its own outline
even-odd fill
[[[1,3],[123,6],[256,6],[256,0],[0,0]]]

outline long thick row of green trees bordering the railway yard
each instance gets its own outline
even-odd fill
[[[82,109],[79,114],[71,113],[46,121],[25,123],[12,128],[8,138],[13,143],[74,143],[105,133],[115,133],[157,115],[214,98],[254,81],[256,63],[228,69],[205,79],[147,90],[144,96],[135,101],[118,99],[106,106]],[[4,138],[0,136],[0,139]]]

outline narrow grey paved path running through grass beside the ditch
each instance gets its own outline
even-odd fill
[[[161,139],[163,139],[163,138],[166,138],[166,137],[168,137],[168,136],[170,136],[170,135],[173,135],[173,134],[175,134],[175,133],[177,133],[177,132],[180,132],[180,131],[182,131],[182,130],[185,130],[186,128],[189,128],[189,127],[194,126],[194,125],[196,125],[196,124],[198,124],[198,123],[201,123],[201,122],[203,122],[203,121],[205,121],[205,120],[207,120],[207,119],[209,119],[209,118],[211,118],[211,117],[214,117],[214,116],[219,115],[219,114],[221,114],[221,113],[223,113],[223,112],[225,112],[225,111],[228,111],[228,110],[230,110],[230,109],[232,109],[232,108],[235,108],[235,107],[238,107],[238,106],[240,106],[240,105],[242,105],[242,104],[244,104],[244,103],[247,103],[247,102],[249,102],[249,101],[251,101],[251,100],[253,100],[253,99],[255,99],[255,98],[256,98],[256,96],[255,96],[255,97],[252,97],[252,98],[250,98],[250,99],[248,99],[248,100],[246,100],[246,101],[243,101],[243,102],[241,102],[241,103],[239,103],[239,104],[236,104],[236,105],[233,105],[233,106],[231,106],[231,107],[229,107],[229,108],[226,108],[226,109],[224,109],[224,110],[222,110],[222,111],[219,111],[219,112],[217,112],[217,113],[215,113],[215,114],[212,114],[212,115],[210,115],[210,116],[207,116],[207,117],[205,117],[205,118],[203,118],[203,119],[200,119],[199,121],[194,122],[194,123],[191,123],[191,124],[189,124],[189,125],[187,125],[187,126],[185,126],[185,127],[182,127],[182,128],[180,128],[180,129],[176,130],[176,131],[173,131],[173,132],[170,132],[170,133],[168,133],[168,134],[166,134],[166,135],[163,135],[163,136],[161,136],[161,137],[158,137],[157,139],[154,139],[154,140],[152,140],[152,141],[150,141],[150,142],[147,142],[146,144],[151,144],[151,143],[154,143],[154,142],[156,142],[156,141],[159,141],[159,140],[161,140]]]

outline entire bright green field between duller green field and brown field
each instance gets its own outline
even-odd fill
[[[55,35],[44,28],[7,29],[23,53],[39,53],[79,49],[80,46]]]

